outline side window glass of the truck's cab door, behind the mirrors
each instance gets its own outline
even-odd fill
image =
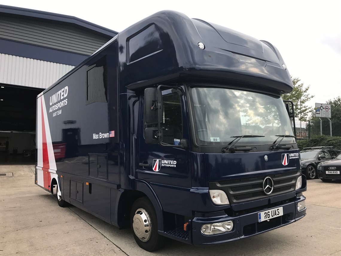
[[[178,94],[166,94],[162,96],[162,100],[162,142],[170,145],[180,145],[180,140],[182,139],[182,114],[180,96]]]

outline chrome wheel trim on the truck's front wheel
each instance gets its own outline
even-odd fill
[[[142,242],[147,242],[151,236],[151,222],[147,211],[143,208],[136,210],[133,217],[133,230]]]

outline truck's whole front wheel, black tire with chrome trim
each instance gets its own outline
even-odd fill
[[[152,252],[163,245],[165,237],[158,233],[156,212],[147,197],[138,198],[133,203],[130,219],[133,236],[138,246]]]

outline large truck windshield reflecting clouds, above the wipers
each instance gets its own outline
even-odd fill
[[[191,88],[196,140],[199,145],[226,145],[235,136],[238,144],[272,144],[278,135],[294,135],[279,96],[221,88]],[[276,136],[277,135],[277,136]],[[285,137],[281,144],[295,143]]]

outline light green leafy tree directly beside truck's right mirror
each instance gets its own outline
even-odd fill
[[[282,99],[291,100],[294,103],[295,117],[300,121],[307,122],[309,114],[313,110],[312,107],[306,105],[307,101],[314,97],[308,94],[310,85],[305,87],[303,83],[299,84],[301,80],[298,77],[291,77],[291,79],[294,89],[291,93],[282,95]]]

